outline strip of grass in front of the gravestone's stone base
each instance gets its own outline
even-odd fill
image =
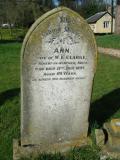
[[[75,148],[68,152],[66,155],[56,154],[41,154],[38,158],[21,160],[99,160],[99,148],[86,146],[83,148]]]

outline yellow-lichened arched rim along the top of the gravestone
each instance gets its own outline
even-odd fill
[[[21,58],[24,56],[24,52],[25,52],[25,48],[26,48],[28,40],[30,40],[30,38],[33,37],[32,33],[34,33],[35,30],[37,30],[37,28],[39,28],[39,26],[41,26],[42,23],[45,23],[45,22],[47,23],[47,26],[43,26],[43,32],[47,32],[47,29],[49,28],[49,25],[50,25],[49,21],[51,21],[51,20],[55,21],[56,17],[58,15],[62,15],[63,12],[64,12],[64,14],[66,13],[66,15],[69,16],[69,19],[73,19],[74,29],[77,28],[75,26],[78,26],[79,30],[83,31],[82,35],[84,36],[84,38],[87,39],[87,41],[89,41],[88,43],[91,45],[91,47],[93,47],[93,49],[94,49],[93,54],[94,54],[94,58],[95,58],[95,70],[96,70],[97,45],[96,45],[96,40],[95,40],[93,31],[91,30],[89,24],[87,23],[87,21],[83,17],[81,17],[78,13],[74,12],[73,10],[71,10],[67,7],[63,7],[63,6],[57,7],[55,9],[45,13],[44,15],[42,15],[40,18],[38,18],[35,21],[35,23],[31,26],[31,28],[29,29],[28,33],[25,36],[25,39],[24,39],[24,42],[22,45],[22,50],[21,50],[21,55],[22,55]],[[47,22],[47,19],[48,19],[48,22]],[[55,23],[53,24],[54,27],[55,27]],[[57,23],[59,23],[59,21]],[[76,25],[75,25],[75,23],[76,23]],[[68,23],[68,25],[69,25],[69,23]],[[41,32],[40,32],[40,34],[41,34]],[[41,36],[42,36],[42,34],[41,34]],[[34,38],[33,38],[33,41],[35,41]]]

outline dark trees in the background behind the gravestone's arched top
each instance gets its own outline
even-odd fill
[[[38,17],[59,5],[77,11],[84,18],[104,11],[106,6],[104,0],[0,0],[0,23],[30,27]]]

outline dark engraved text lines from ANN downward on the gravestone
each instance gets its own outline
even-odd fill
[[[69,52],[69,48],[62,48],[62,50],[56,48],[53,53],[57,55],[38,57],[37,63],[32,65],[36,72],[36,77],[33,77],[32,81],[84,79],[87,57],[73,56]]]

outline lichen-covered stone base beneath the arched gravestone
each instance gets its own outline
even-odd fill
[[[47,146],[41,150],[40,146],[28,145],[21,146],[20,140],[13,140],[13,160],[20,160],[21,158],[37,157],[41,153],[57,153],[57,152],[67,152],[74,147],[82,147],[88,145],[88,138],[81,138],[80,140],[74,140],[66,143],[54,144],[52,146]]]

